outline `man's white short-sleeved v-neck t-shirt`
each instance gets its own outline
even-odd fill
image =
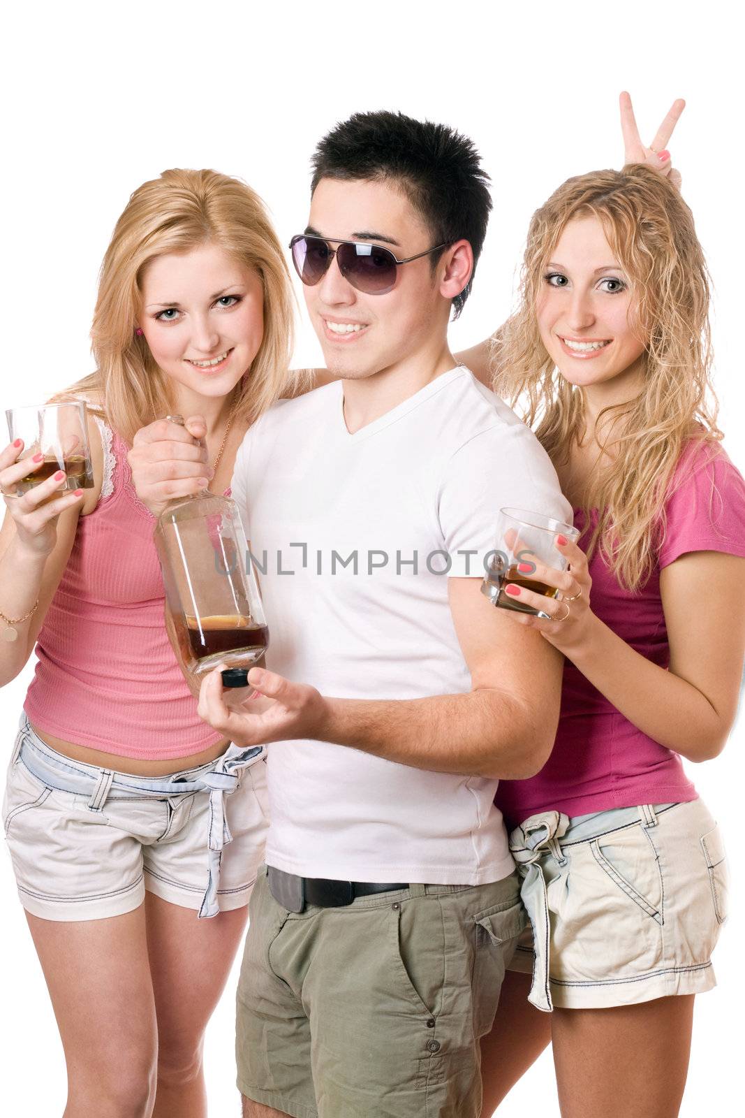
[[[246,435],[232,495],[259,565],[267,666],[341,699],[470,691],[448,577],[483,578],[503,505],[571,523],[533,433],[464,367],[354,434],[341,381],[281,401]],[[462,885],[513,872],[497,780],[309,740],[274,742],[268,776],[279,870]]]

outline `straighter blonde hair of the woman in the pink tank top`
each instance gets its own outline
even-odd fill
[[[168,378],[136,337],[144,268],[156,256],[219,245],[258,272],[264,285],[264,338],[240,385],[236,418],[252,423],[283,394],[289,373],[294,302],[285,256],[259,196],[217,171],[171,170],[139,187],[116,222],[98,282],[90,337],[97,369],[59,398],[101,400],[111,427],[131,443],[135,432],[173,410]]]

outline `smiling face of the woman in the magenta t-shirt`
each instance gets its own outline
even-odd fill
[[[536,318],[541,339],[562,377],[603,395],[639,390],[644,343],[634,331],[630,278],[596,217],[570,221],[544,268]],[[612,382],[612,383],[611,383]]]

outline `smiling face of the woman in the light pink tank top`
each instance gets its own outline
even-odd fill
[[[197,396],[227,396],[264,337],[258,273],[204,244],[150,260],[141,293],[139,325],[165,376]]]

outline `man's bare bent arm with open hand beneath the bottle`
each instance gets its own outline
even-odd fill
[[[252,669],[249,683],[260,698],[229,708],[217,670],[202,684],[200,716],[239,745],[311,738],[430,771],[512,779],[534,775],[556,733],[562,657],[539,634],[513,626],[495,609],[480,593],[479,578],[451,578],[448,586],[471,674],[467,694],[333,699]]]

